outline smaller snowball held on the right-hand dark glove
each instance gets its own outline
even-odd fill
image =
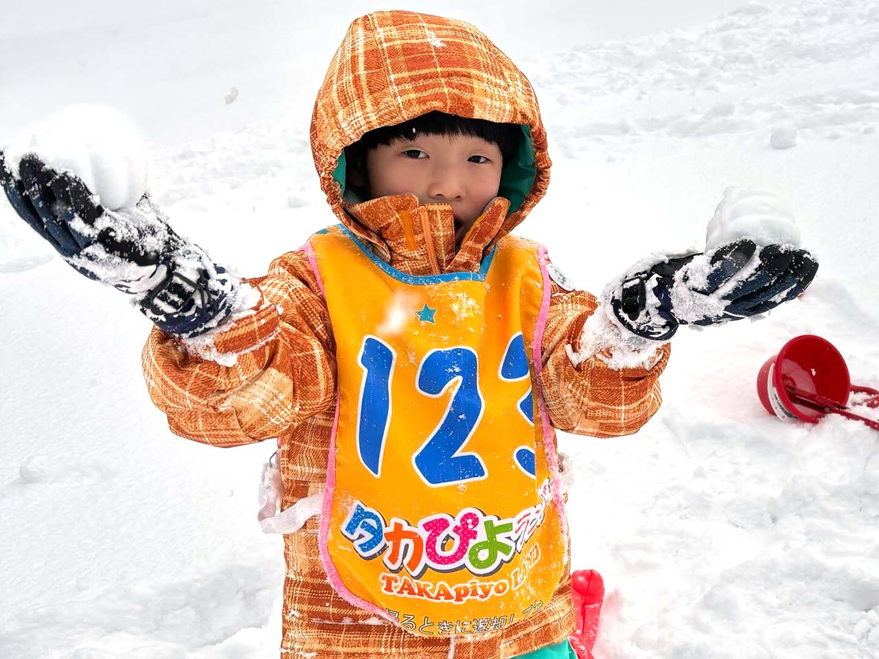
[[[770,192],[728,187],[708,222],[705,249],[739,238],[749,238],[758,245],[800,245],[800,229],[794,213]]]

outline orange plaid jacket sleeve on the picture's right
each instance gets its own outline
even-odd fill
[[[614,371],[595,356],[573,366],[565,345],[579,350],[583,324],[598,308],[598,301],[590,293],[568,292],[555,282],[550,284],[541,385],[552,424],[560,431],[592,437],[637,432],[662,402],[657,378],[668,362],[668,344],[659,349],[649,369]]]

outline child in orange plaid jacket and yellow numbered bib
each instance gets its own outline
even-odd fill
[[[39,156],[0,165],[18,214],[155,322],[143,369],[171,431],[278,438],[282,656],[571,655],[553,428],[636,432],[679,324],[766,311],[817,265],[742,240],[647,260],[600,305],[570,290],[510,234],[548,185],[534,91],[447,18],[355,20],[311,143],[341,224],[247,280],[149,197],[111,212]]]

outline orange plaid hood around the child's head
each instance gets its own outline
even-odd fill
[[[531,83],[509,57],[469,23],[410,11],[376,11],[355,20],[318,91],[311,148],[321,187],[338,218],[373,242],[378,237],[345,211],[343,149],[375,128],[438,110],[525,127],[530,152],[501,183],[519,184],[492,243],[519,224],[546,192],[551,165]],[[527,181],[533,179],[530,189]],[[527,192],[524,192],[527,191]],[[366,235],[364,235],[366,233]],[[381,241],[378,241],[381,243]]]

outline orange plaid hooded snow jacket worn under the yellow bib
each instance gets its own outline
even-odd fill
[[[433,110],[522,124],[531,134],[530,192],[512,213],[506,199],[491,202],[459,250],[450,206],[419,206],[414,195],[345,204],[333,177],[342,149],[362,134]],[[311,144],[338,219],[377,256],[409,274],[476,272],[487,250],[522,221],[548,185],[546,133],[527,78],[474,26],[425,14],[376,12],[352,23],[318,94]],[[237,355],[234,366],[199,358],[177,338],[153,329],[143,350],[143,371],[152,401],[180,437],[223,447],[278,438],[286,509],[319,493],[325,482],[336,401],[333,329],[303,251],[276,258],[265,277],[248,282],[258,287],[262,300],[214,337],[218,353]],[[583,323],[597,301],[589,293],[552,286],[541,371],[552,424],[593,437],[636,432],[661,402],[657,377],[665,368],[667,347],[649,370],[614,371],[599,358],[575,368],[564,346],[578,349]],[[301,531],[284,536],[282,656],[450,655],[448,637],[410,635],[369,619],[339,597],[319,558],[317,529],[312,518]],[[540,613],[497,634],[460,637],[451,654],[521,655],[563,641],[573,620],[566,577]]]

